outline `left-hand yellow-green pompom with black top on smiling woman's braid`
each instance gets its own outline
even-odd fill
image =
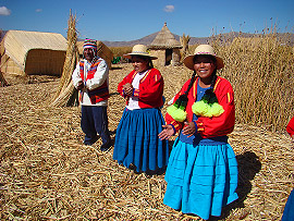
[[[185,111],[186,106],[187,106],[187,96],[186,95],[181,95],[177,100],[170,106],[167,109],[167,112],[175,120],[179,122],[184,122],[185,119],[187,118],[187,113]]]

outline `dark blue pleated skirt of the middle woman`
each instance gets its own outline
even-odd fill
[[[126,168],[132,163],[137,172],[166,168],[169,143],[158,138],[164,124],[159,109],[125,108],[117,128],[113,159]]]

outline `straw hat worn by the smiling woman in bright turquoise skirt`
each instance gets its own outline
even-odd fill
[[[205,54],[212,56],[216,58],[217,70],[222,69],[224,66],[223,60],[220,57],[216,56],[213,48],[209,45],[199,45],[197,48],[195,48],[194,54],[187,56],[186,58],[184,58],[183,62],[186,65],[186,67],[194,70],[194,62],[193,62],[194,57],[195,56],[205,56]]]

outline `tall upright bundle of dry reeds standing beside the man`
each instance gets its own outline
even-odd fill
[[[76,15],[70,12],[69,19],[69,29],[68,29],[68,50],[66,58],[63,65],[63,72],[57,89],[56,95],[53,96],[52,106],[53,107],[64,107],[74,105],[73,96],[75,95],[75,88],[72,84],[72,73],[75,69],[78,50],[76,47],[77,33],[75,28]]]

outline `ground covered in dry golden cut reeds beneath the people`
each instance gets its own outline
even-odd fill
[[[131,70],[113,65],[111,93]],[[183,66],[160,71],[168,101],[189,73]],[[59,78],[32,76],[0,88],[1,220],[199,220],[162,204],[164,174],[135,174],[118,165],[113,147],[101,152],[100,140],[83,145],[79,107],[50,106],[58,85]],[[118,95],[109,99],[113,139],[124,106]],[[229,142],[238,162],[240,200],[221,219],[280,220],[293,188],[289,135],[237,123]]]

